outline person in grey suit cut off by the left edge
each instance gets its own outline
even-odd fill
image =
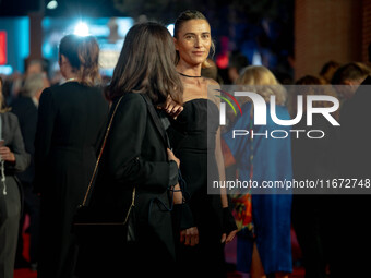
[[[0,277],[13,278],[21,220],[21,183],[15,173],[29,165],[29,155],[15,114],[4,107],[0,77]]]

